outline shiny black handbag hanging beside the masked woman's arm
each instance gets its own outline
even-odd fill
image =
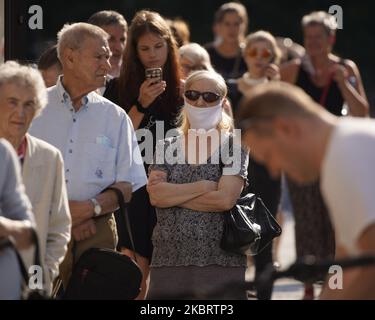
[[[221,159],[220,165],[223,168]],[[262,199],[253,193],[247,193],[224,214],[220,247],[231,253],[256,255],[275,237],[280,236],[281,232],[281,227]]]

